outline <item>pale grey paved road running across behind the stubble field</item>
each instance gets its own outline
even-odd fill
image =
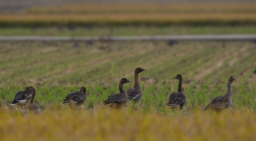
[[[119,37],[49,37],[0,36],[0,41],[91,41],[91,40],[255,40],[256,35],[180,35],[180,36],[119,36]]]

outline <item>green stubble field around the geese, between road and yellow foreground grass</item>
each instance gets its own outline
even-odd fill
[[[255,111],[255,44],[250,42],[1,42],[1,106],[12,100],[25,86],[35,86],[36,101],[43,108],[59,103],[64,95],[87,87],[88,108],[100,104],[107,95],[118,92],[122,77],[133,81],[137,67],[148,69],[140,74],[147,106],[157,102],[164,110],[170,92],[177,90],[177,74],[183,75],[188,109],[203,107],[226,92],[230,75],[233,83],[233,108],[246,106]],[[133,83],[125,84],[125,89]],[[245,91],[246,90],[246,91]],[[147,109],[147,107],[145,107]]]

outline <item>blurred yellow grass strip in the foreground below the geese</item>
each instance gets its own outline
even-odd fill
[[[204,140],[255,141],[256,115],[224,111],[219,115],[197,111],[160,115],[122,109],[73,112],[43,111],[23,118],[18,112],[0,112],[1,141],[11,140]]]

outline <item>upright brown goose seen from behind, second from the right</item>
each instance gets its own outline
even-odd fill
[[[182,109],[186,103],[186,95],[183,93],[181,89],[182,76],[179,74],[174,78],[179,80],[178,92],[173,92],[169,95],[168,103],[166,105],[175,108],[179,107],[180,109]]]

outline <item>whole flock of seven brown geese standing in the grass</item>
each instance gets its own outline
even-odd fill
[[[139,82],[139,73],[143,72],[147,69],[137,68],[134,72],[134,88],[128,89],[125,91],[123,84],[131,82],[126,78],[122,78],[119,82],[119,91],[120,93],[109,95],[107,100],[105,100],[102,104],[103,106],[109,106],[113,109],[119,109],[127,104],[127,102],[134,101],[139,102],[141,97],[143,96],[140,82]],[[178,91],[173,92],[169,95],[168,103],[166,104],[172,108],[179,108],[182,109],[186,103],[186,95],[181,89],[182,84],[182,76],[178,74],[174,78],[179,80]],[[220,112],[222,109],[227,108],[230,106],[232,101],[232,89],[231,83],[236,78],[230,76],[227,81],[227,92],[225,95],[218,96],[212,101],[209,102],[205,106],[203,110],[214,110],[215,112]],[[40,108],[38,105],[33,103],[35,98],[35,88],[33,86],[26,87],[23,91],[19,91],[16,93],[15,98],[13,101],[10,102],[12,105],[19,105],[22,109],[22,115],[27,116],[29,112],[34,113],[35,115],[40,115]],[[86,100],[86,88],[82,86],[80,91],[72,92],[68,94],[65,99],[63,99],[62,104],[68,104],[70,107],[77,108],[84,104]]]

